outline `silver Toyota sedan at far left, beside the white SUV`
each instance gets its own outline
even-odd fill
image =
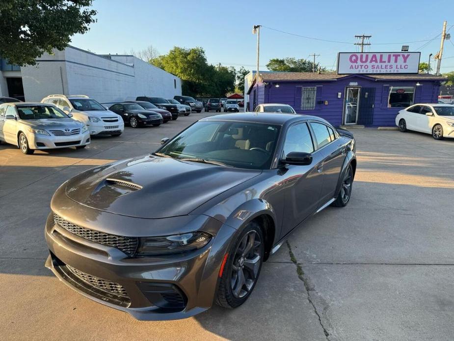
[[[24,154],[36,149],[76,147],[90,143],[87,126],[52,104],[0,105],[0,142],[17,145]]]

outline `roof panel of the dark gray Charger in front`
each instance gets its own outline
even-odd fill
[[[314,119],[321,122],[326,122],[323,118],[311,115],[302,114],[280,114],[280,113],[238,113],[238,114],[221,114],[215,116],[204,117],[201,121],[242,121],[242,122],[257,122],[257,123],[268,123],[268,124],[279,124],[282,125],[287,122]],[[327,123],[327,122],[326,122]]]

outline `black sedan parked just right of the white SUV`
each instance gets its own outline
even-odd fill
[[[123,121],[129,123],[132,128],[137,128],[140,125],[154,125],[157,127],[163,122],[160,114],[143,109],[137,103],[116,103],[109,110],[119,114]]]

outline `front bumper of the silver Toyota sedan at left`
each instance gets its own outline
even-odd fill
[[[45,136],[27,134],[28,145],[31,149],[55,149],[80,146],[90,143],[90,133],[85,132],[70,136]]]

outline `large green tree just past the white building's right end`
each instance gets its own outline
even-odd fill
[[[235,69],[208,64],[201,47],[174,47],[150,63],[180,77],[182,91],[189,96],[222,97],[235,88]]]

